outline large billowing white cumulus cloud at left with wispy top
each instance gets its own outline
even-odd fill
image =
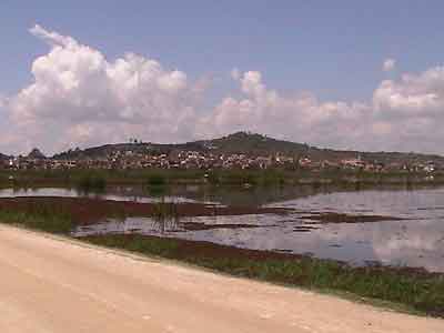
[[[190,82],[184,72],[168,70],[153,59],[127,53],[109,61],[71,37],[40,26],[30,31],[50,51],[33,61],[33,82],[8,101],[17,131],[27,133],[23,141],[42,142],[54,151],[129,137],[189,137],[199,94],[204,92],[200,82]]]

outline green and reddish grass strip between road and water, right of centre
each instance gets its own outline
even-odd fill
[[[408,269],[351,268],[334,261],[311,258],[259,260],[250,255],[224,255],[223,250],[188,251],[183,242],[142,235],[90,236],[88,242],[124,249],[145,255],[180,260],[235,276],[341,291],[360,297],[404,305],[411,311],[444,316],[444,275]],[[223,249],[224,246],[212,245]]]

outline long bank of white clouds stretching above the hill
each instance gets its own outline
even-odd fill
[[[270,89],[260,71],[233,69],[238,93],[209,108],[203,79],[134,53],[111,61],[40,26],[30,32],[49,52],[33,61],[30,84],[0,98],[0,151],[38,145],[52,153],[129,138],[178,142],[250,130],[342,149],[444,153],[444,67],[384,80],[363,102],[284,93]],[[387,59],[383,70],[394,67]]]

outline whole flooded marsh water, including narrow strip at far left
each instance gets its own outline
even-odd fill
[[[262,192],[263,191],[263,192]],[[0,198],[70,196],[69,189],[0,190]],[[310,254],[353,265],[418,266],[444,272],[444,189],[365,190],[291,188],[262,190],[182,186],[161,196],[114,188],[89,198],[141,203],[204,203],[284,208],[286,213],[248,213],[172,219],[122,218],[79,226],[75,236],[139,233],[209,241],[244,249]]]

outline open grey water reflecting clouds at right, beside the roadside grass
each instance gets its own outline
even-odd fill
[[[442,189],[343,192],[271,204],[309,212],[379,214],[408,219],[403,221],[320,224],[304,219],[306,213],[200,216],[181,220],[179,224],[160,231],[150,219],[133,218],[128,219],[123,226],[105,223],[94,225],[88,232],[128,232],[137,229],[141,234],[162,234],[256,250],[311,253],[316,258],[347,261],[354,265],[377,262],[444,272],[444,212],[436,209],[444,206],[443,194]],[[183,224],[190,222],[209,225],[251,224],[261,228],[188,231]]]

